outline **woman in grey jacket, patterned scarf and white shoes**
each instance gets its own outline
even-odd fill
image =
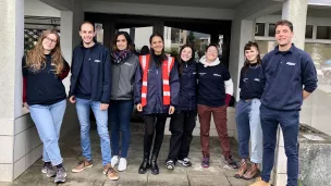
[[[119,164],[118,170],[126,170],[127,151],[131,140],[130,122],[133,111],[133,87],[139,58],[134,53],[132,39],[126,32],[119,32],[112,45],[111,53],[111,100],[109,122],[111,128],[111,165]],[[121,153],[119,138],[121,129]]]

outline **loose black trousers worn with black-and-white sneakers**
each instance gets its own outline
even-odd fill
[[[168,160],[176,161],[188,157],[196,115],[196,111],[177,111],[171,116]]]

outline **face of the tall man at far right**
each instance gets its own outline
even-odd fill
[[[275,28],[275,39],[279,46],[292,45],[293,32],[287,25],[278,25]]]

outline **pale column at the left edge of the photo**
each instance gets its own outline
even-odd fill
[[[16,174],[15,123],[23,113],[21,66],[24,50],[24,0],[1,0],[0,12],[0,182],[12,182]]]

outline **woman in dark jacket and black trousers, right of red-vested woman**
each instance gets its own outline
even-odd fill
[[[191,166],[188,159],[192,133],[196,125],[196,61],[194,49],[184,45],[180,50],[179,74],[180,74],[180,102],[170,121],[170,149],[166,168],[173,170],[175,162],[183,166]]]

